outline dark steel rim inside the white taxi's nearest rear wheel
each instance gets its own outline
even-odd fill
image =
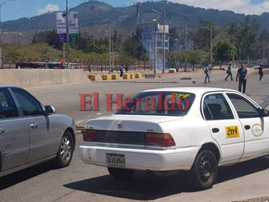
[[[208,157],[203,157],[199,164],[199,176],[203,183],[210,183],[213,177],[212,163]]]

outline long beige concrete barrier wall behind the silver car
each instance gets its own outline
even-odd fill
[[[0,84],[21,87],[89,81],[82,69],[0,69]]]

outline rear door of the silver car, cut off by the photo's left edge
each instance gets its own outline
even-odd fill
[[[0,89],[0,148],[4,154],[1,171],[26,164],[29,153],[29,129],[9,89]]]

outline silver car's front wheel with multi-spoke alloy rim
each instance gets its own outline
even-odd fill
[[[65,168],[70,165],[74,152],[74,140],[72,134],[66,131],[61,139],[61,144],[55,158],[57,168]]]

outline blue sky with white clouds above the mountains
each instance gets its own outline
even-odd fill
[[[6,0],[0,0],[0,4]],[[85,0],[69,0],[69,7],[75,7]],[[115,7],[132,5],[134,1],[146,0],[102,0]],[[269,0],[170,0],[195,7],[232,10],[236,13],[258,14],[269,12]],[[66,0],[15,0],[5,3],[1,7],[1,22],[32,17],[66,9]]]

